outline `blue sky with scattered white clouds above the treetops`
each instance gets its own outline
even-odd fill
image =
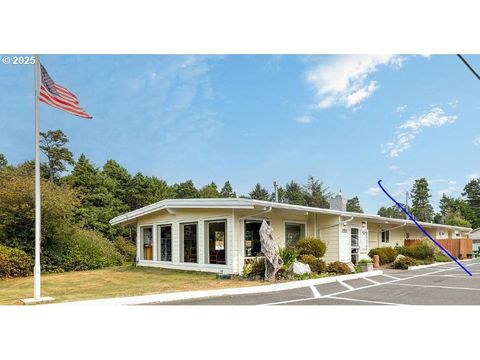
[[[466,56],[480,70],[480,56]],[[437,205],[480,176],[480,83],[453,55],[45,55],[91,121],[40,105],[78,157],[197,186],[304,183],[376,213],[426,177]],[[33,69],[0,65],[0,152],[33,158]]]

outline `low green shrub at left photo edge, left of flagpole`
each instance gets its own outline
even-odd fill
[[[33,259],[20,249],[0,245],[0,278],[28,276],[33,272]]]

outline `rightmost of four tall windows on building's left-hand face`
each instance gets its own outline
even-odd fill
[[[226,264],[226,230],[226,220],[205,222],[205,262],[207,264]]]

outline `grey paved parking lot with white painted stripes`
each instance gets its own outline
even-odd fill
[[[417,270],[385,270],[365,279],[262,294],[220,296],[158,305],[480,305],[480,261]],[[157,305],[157,304],[155,304]]]

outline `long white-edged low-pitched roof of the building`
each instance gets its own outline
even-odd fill
[[[173,210],[173,209],[251,209],[251,210],[268,210],[268,208],[274,209],[284,209],[291,211],[301,211],[301,212],[311,212],[319,214],[330,214],[338,215],[345,217],[356,217],[366,220],[373,220],[383,223],[391,224],[410,224],[414,225],[414,222],[411,220],[404,219],[394,219],[388,217],[382,217],[375,214],[364,214],[356,213],[349,211],[340,211],[332,209],[322,209],[311,206],[302,206],[302,205],[292,205],[271,201],[263,200],[254,200],[254,199],[243,199],[243,198],[215,198],[215,199],[166,199],[150,205],[147,205],[143,208],[130,211],[129,213],[119,215],[112,220],[110,220],[111,225],[118,225],[125,222],[130,222],[136,218],[139,218],[144,215],[148,215],[160,210]],[[428,227],[441,227],[447,229],[461,230],[461,231],[471,231],[471,228],[461,227],[461,226],[452,226],[444,224],[433,224],[426,222],[418,222],[420,225],[425,225]]]

